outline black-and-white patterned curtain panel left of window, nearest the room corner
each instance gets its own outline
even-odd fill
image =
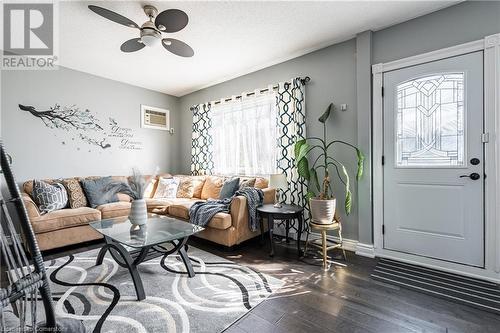
[[[191,174],[210,175],[214,168],[211,105],[198,104],[193,106],[191,111],[193,112]]]

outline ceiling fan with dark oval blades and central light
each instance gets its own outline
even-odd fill
[[[154,46],[161,41],[163,47],[175,55],[181,57],[192,57],[194,55],[191,46],[183,41],[175,38],[162,39],[162,32],[177,32],[184,29],[188,24],[189,18],[187,14],[180,9],[167,9],[158,14],[156,7],[146,5],[143,9],[149,20],[140,27],[134,21],[109,9],[94,5],[90,5],[89,9],[108,20],[140,30],[140,38],[129,39],[120,46],[122,52],[139,51],[145,46]]]

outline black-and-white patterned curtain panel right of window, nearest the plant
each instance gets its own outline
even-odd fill
[[[284,201],[307,207],[306,184],[295,167],[294,145],[306,136],[305,89],[300,78],[280,83],[277,96],[279,127],[277,169],[287,177],[289,188]],[[306,214],[307,215],[307,214]]]

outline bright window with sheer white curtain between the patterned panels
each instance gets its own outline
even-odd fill
[[[274,93],[212,106],[214,174],[276,172],[277,109]]]

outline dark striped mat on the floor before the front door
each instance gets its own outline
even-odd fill
[[[500,314],[500,285],[493,282],[389,259],[380,259],[371,277]]]

